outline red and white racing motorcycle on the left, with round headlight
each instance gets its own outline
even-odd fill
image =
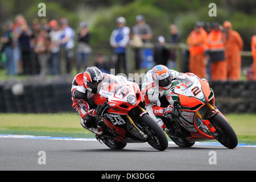
[[[94,102],[105,109],[98,119],[104,133],[97,140],[112,149],[122,149],[127,143],[147,142],[156,150],[166,150],[168,140],[162,128],[145,108],[139,86],[122,76],[107,76]]]

